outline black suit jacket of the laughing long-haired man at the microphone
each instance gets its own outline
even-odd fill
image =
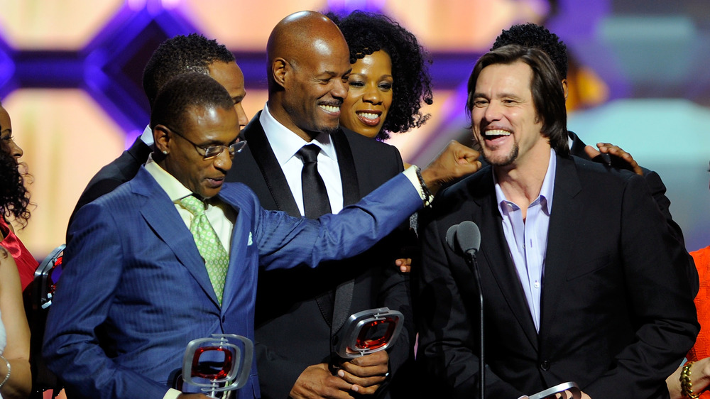
[[[422,315],[417,361],[427,381],[442,398],[477,392],[479,293],[445,242],[449,226],[472,220],[481,229],[488,398],[564,381],[591,398],[667,398],[665,378],[699,331],[684,248],[633,173],[557,155],[553,196],[539,333],[510,258],[490,166],[449,187],[420,218],[423,267],[413,273]]]

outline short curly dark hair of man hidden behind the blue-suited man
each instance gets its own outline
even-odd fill
[[[217,40],[198,33],[178,35],[160,43],[143,70],[143,91],[153,106],[163,84],[185,72],[208,75],[214,62],[234,62],[234,54]]]

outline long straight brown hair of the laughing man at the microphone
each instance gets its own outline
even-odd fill
[[[466,110],[470,117],[474,108],[476,81],[488,65],[525,62],[532,70],[530,92],[532,104],[538,120],[542,120],[542,136],[550,140],[550,147],[561,155],[569,153],[567,145],[567,110],[564,108],[564,91],[555,65],[550,57],[537,48],[525,48],[520,45],[506,45],[490,51],[479,58],[469,77]]]

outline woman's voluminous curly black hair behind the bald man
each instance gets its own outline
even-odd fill
[[[379,13],[353,11],[346,16],[327,13],[340,28],[350,48],[350,63],[383,50],[392,60],[392,105],[377,138],[403,133],[425,124],[430,114],[420,111],[422,102],[432,104],[432,61],[415,35],[392,18]]]

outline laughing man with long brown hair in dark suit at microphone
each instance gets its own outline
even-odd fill
[[[569,156],[547,55],[505,46],[476,63],[467,109],[488,165],[442,192],[414,270],[417,361],[441,397],[478,392],[474,274],[449,226],[473,220],[486,302],[486,397],[575,381],[583,398],[666,398],[698,332],[684,248],[643,178]]]

